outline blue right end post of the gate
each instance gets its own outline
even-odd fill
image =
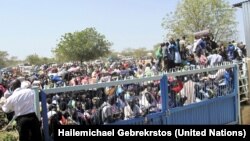
[[[241,124],[241,112],[240,112],[240,93],[239,93],[239,66],[235,64],[234,66],[234,94],[236,102],[236,120]],[[238,118],[238,119],[237,119]]]

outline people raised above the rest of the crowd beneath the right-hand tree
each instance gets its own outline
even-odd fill
[[[169,70],[177,66],[214,66],[224,61],[241,62],[246,56],[246,45],[235,41],[216,43],[209,36],[195,38],[191,45],[183,36],[181,40],[170,38],[157,49],[158,70]]]

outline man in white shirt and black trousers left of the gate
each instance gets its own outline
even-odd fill
[[[10,83],[9,90],[12,95],[2,109],[4,112],[15,112],[19,140],[41,141],[40,124],[34,107],[35,91],[21,89],[21,82],[18,79]]]

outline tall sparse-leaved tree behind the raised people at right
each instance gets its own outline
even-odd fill
[[[216,41],[235,39],[236,25],[235,10],[225,0],[182,0],[162,23],[167,36],[180,38],[209,29]]]

